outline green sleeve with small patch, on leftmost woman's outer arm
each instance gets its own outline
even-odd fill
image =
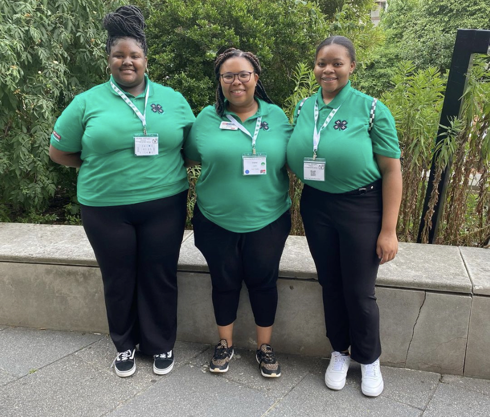
[[[83,116],[84,108],[79,98],[75,97],[58,117],[51,134],[51,145],[65,152],[80,152],[85,131]]]

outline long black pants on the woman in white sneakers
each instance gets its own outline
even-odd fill
[[[351,347],[359,363],[381,354],[375,282],[381,230],[381,190],[330,194],[305,185],[301,216],[322,285],[327,337],[334,350]]]

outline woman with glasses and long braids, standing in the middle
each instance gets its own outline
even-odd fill
[[[291,128],[267,96],[259,60],[227,49],[215,62],[216,102],[197,117],[184,145],[188,165],[202,164],[192,225],[212,282],[220,341],[209,369],[227,372],[242,281],[257,330],[264,377],[281,368],[271,347],[279,261],[291,219],[285,168]]]

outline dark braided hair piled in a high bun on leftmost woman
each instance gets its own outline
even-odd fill
[[[136,6],[121,6],[115,12],[104,16],[104,28],[107,30],[106,53],[111,55],[111,48],[121,38],[134,39],[144,55],[148,52],[146,37],[144,36],[144,17]]]

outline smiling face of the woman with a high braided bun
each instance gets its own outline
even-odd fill
[[[135,96],[144,91],[147,62],[143,49],[132,38],[117,40],[108,57],[108,65],[115,82],[122,90]]]

